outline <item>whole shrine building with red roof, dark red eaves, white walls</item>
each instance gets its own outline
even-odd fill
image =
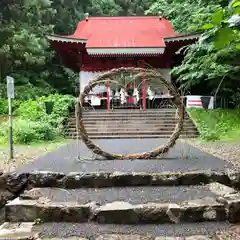
[[[177,34],[162,17],[89,17],[79,22],[73,35],[48,36],[64,65],[79,72],[80,91],[104,71],[120,67],[155,68],[171,81],[170,71],[179,50],[197,41],[197,34]],[[165,89],[154,90],[142,81],[126,89],[97,86],[86,99],[93,107],[140,108],[170,98]],[[148,104],[151,102],[151,104]]]

